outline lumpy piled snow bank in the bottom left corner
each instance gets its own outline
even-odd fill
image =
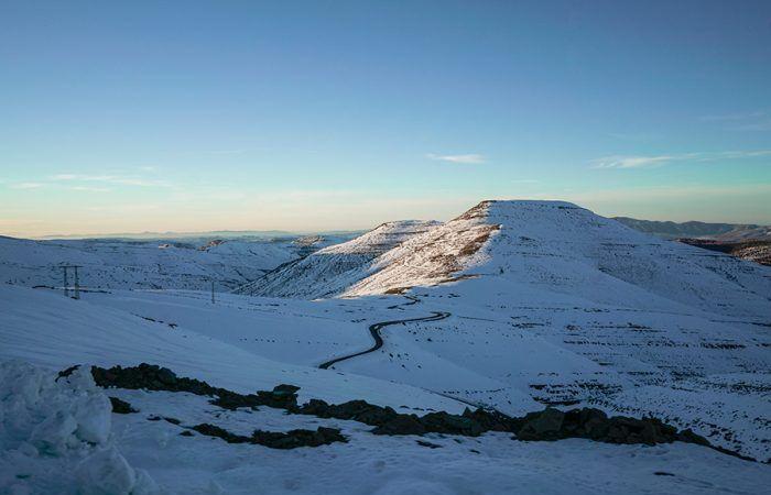
[[[110,400],[87,367],[56,374],[0,362],[0,493],[159,493],[110,438]]]

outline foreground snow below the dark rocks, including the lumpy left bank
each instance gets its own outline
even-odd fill
[[[771,482],[768,466],[693,444],[518,442],[488,433],[430,436],[426,440],[439,448],[427,449],[415,437],[373,436],[356,421],[287,416],[269,407],[227,411],[204,397],[167,392],[109,391],[139,413],[111,420],[99,415],[106,418],[99,422],[110,427],[109,438],[89,444],[73,432],[77,420],[68,416],[97,407],[89,398],[99,397],[101,409],[108,407],[87,373],[55,381],[55,373],[18,362],[3,363],[0,373],[0,410],[28,421],[12,432],[2,422],[0,486],[9,494],[754,494]],[[68,439],[66,449],[51,454],[24,440],[45,421],[41,418],[62,411],[72,418],[65,428],[70,433],[62,437]],[[151,416],[181,424],[148,421]],[[199,422],[237,433],[321,425],[340,428],[348,443],[280,451],[180,435]],[[47,430],[43,437],[63,441]]]

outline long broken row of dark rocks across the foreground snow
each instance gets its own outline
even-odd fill
[[[72,373],[74,369],[68,369],[65,372]],[[530,413],[521,418],[481,408],[474,411],[467,408],[463,415],[438,411],[417,416],[397,413],[391,407],[369,404],[366,400],[327,404],[325,400],[311,399],[298,406],[297,391],[300,387],[294,385],[282,384],[270,392],[259,391],[256,394],[239,394],[226,388],[213,387],[198,380],[178,377],[169,369],[146,363],[130,367],[113,366],[109,370],[93,366],[91,374],[97,385],[102,387],[188,392],[211,396],[214,397],[210,400],[211,404],[226,409],[269,406],[285,409],[290,414],[354,420],[376,427],[372,429],[374,435],[442,433],[478,437],[487,431],[502,431],[513,433],[513,438],[517,440],[526,441],[585,438],[608,443],[653,446],[681,441],[709,446],[705,438],[693,431],[678,431],[675,427],[655,418],[608,417],[604,411],[594,408],[562,411],[547,407],[542,411]],[[131,407],[128,403],[123,404]],[[124,408],[121,404],[118,404],[118,407]],[[251,437],[237,436],[207,424],[198,425],[192,429],[203,435],[221,438],[230,443],[259,443],[276,449],[315,447],[334,441],[345,441],[339,430],[329,428],[318,428],[315,432],[293,430],[286,433],[256,430]],[[723,449],[718,450],[727,452]]]

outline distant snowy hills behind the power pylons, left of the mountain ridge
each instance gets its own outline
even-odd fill
[[[225,290],[253,280],[308,249],[291,238],[209,241],[30,241],[0,237],[0,282],[62,286],[58,265],[67,263],[83,266],[80,285],[89,288],[206,289],[214,279],[217,289]]]

